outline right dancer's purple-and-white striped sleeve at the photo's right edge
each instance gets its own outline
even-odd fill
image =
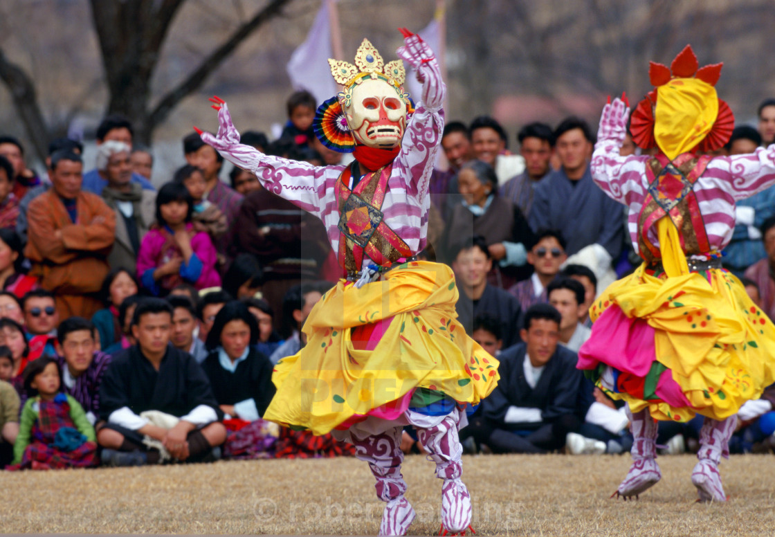
[[[716,157],[704,176],[718,179],[735,200],[750,198],[775,184],[775,144],[748,155]]]

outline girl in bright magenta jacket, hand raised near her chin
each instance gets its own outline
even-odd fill
[[[217,254],[205,232],[192,224],[194,201],[183,184],[167,183],[156,198],[156,224],[143,237],[137,273],[143,287],[155,296],[168,294],[188,282],[197,289],[218,287]]]

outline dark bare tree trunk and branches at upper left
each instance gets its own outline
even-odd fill
[[[198,89],[248,36],[281,15],[291,0],[267,0],[215,50],[206,54],[188,77],[156,103],[151,103],[150,84],[159,64],[160,51],[175,15],[185,2],[188,0],[89,0],[108,87],[107,112],[127,115],[133,121],[135,137],[140,143],[149,144],[153,129],[164,122],[175,106]],[[9,60],[2,49],[0,79],[11,91],[36,153],[44,158],[53,129],[40,110],[33,78]]]

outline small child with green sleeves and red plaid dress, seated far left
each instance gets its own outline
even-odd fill
[[[26,368],[24,386],[30,398],[22,408],[13,446],[13,470],[95,466],[95,429],[72,396],[60,393],[57,360],[43,356]]]

